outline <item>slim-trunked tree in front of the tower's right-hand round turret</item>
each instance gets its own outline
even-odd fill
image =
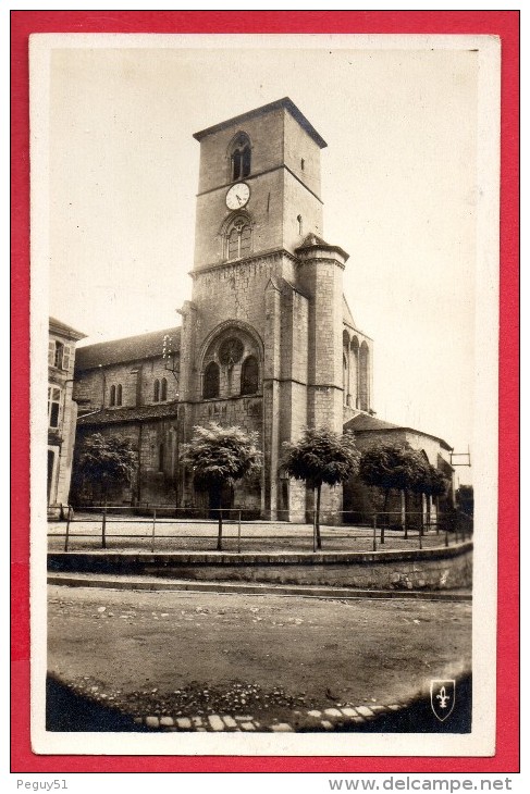
[[[317,493],[317,547],[320,536],[320,496],[322,484],[337,485],[357,472],[359,451],[350,433],[338,435],[326,427],[305,430],[297,444],[284,444],[282,463],[288,476],[303,480]]]

